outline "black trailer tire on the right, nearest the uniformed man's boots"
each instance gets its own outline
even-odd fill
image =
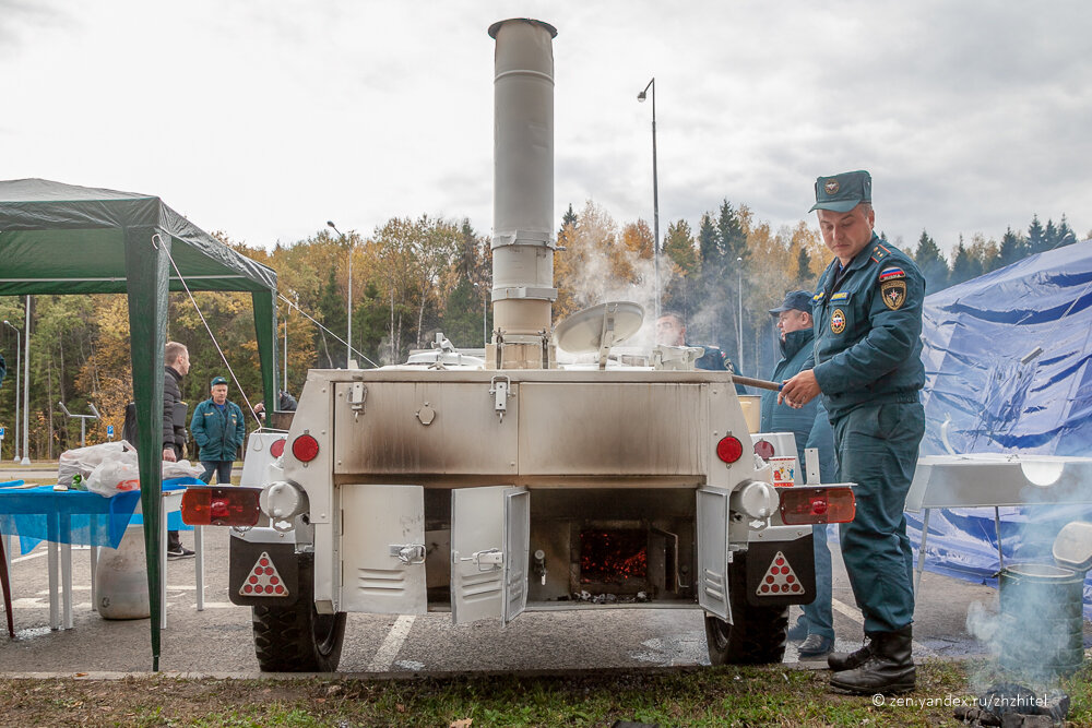
[[[756,607],[747,601],[747,562],[736,556],[728,566],[733,624],[705,614],[705,644],[713,665],[769,665],[785,658],[788,607]]]

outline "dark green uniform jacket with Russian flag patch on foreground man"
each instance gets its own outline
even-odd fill
[[[865,404],[917,402],[925,385],[925,278],[905,253],[875,234],[841,268],[834,259],[811,299],[811,360],[830,418]]]

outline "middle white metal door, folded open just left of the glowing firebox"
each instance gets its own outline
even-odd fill
[[[526,605],[527,503],[524,488],[451,491],[451,620],[455,624],[489,618],[507,622]]]

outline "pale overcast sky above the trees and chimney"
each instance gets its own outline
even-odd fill
[[[517,16],[558,28],[558,220],[651,224],[655,76],[661,232],[725,198],[792,225],[858,168],[906,247],[1092,229],[1088,0],[0,0],[0,178],[155,194],[257,246],[423,213],[488,234],[486,29]]]

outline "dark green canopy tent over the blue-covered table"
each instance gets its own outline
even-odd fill
[[[171,260],[174,265],[171,265]],[[177,273],[175,267],[177,266]],[[249,290],[265,402],[276,402],[276,273],[204,232],[156,196],[0,181],[0,296],[121,294],[136,403],[152,669],[159,669],[159,500],[167,291]]]

